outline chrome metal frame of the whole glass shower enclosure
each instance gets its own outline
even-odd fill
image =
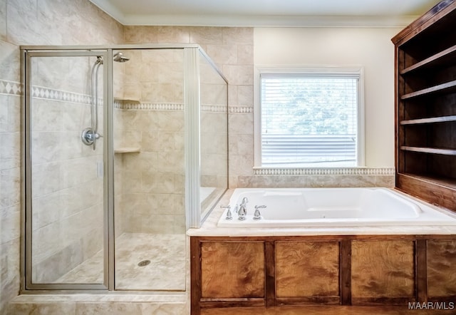
[[[200,227],[202,220],[199,197],[200,180],[200,73],[199,53],[219,73],[215,63],[202,48],[195,43],[174,44],[125,44],[113,46],[21,46],[21,73],[24,87],[22,102],[22,160],[21,160],[21,293],[93,293],[123,291],[115,289],[115,190],[114,190],[114,93],[113,93],[113,51],[120,49],[182,49],[184,62],[184,104],[185,104],[185,220],[186,228]],[[103,284],[35,284],[31,282],[31,232],[32,232],[32,179],[31,179],[31,58],[33,57],[97,57],[102,56],[103,63]],[[228,110],[227,110],[228,115]],[[228,128],[228,127],[227,127]],[[82,130],[81,130],[82,131]],[[101,143],[100,143],[101,145]],[[228,165],[227,165],[228,168]],[[228,183],[227,183],[228,184]],[[187,284],[186,284],[187,286]],[[188,289],[188,287],[187,287]],[[167,290],[164,290],[167,291]]]

